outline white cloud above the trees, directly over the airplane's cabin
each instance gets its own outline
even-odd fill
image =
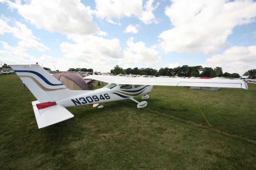
[[[126,41],[128,47],[124,50],[124,60],[128,67],[138,62],[144,63],[146,67],[155,67],[160,63],[161,57],[154,46],[147,48],[144,42],[134,43],[133,40],[134,38],[131,37]]]

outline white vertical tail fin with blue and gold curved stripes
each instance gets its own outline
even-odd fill
[[[67,98],[71,91],[38,64],[10,66],[40,103]]]

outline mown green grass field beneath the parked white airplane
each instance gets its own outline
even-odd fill
[[[256,169],[256,85],[157,86],[146,108],[70,107],[74,118],[42,129],[16,74],[0,76],[0,95],[0,169]]]

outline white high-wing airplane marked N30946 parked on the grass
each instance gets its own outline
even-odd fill
[[[40,65],[10,65],[28,89],[36,97],[32,106],[38,128],[74,117],[65,107],[92,105],[111,101],[131,99],[138,103],[138,108],[147,106],[146,101],[138,102],[134,98],[142,96],[148,99],[153,85],[196,86],[196,87],[231,87],[248,90],[242,80],[230,79],[171,79],[90,75],[86,78],[109,83],[96,90],[70,90]]]

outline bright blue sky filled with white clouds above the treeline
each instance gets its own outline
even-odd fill
[[[253,0],[0,0],[0,62],[256,69]]]

